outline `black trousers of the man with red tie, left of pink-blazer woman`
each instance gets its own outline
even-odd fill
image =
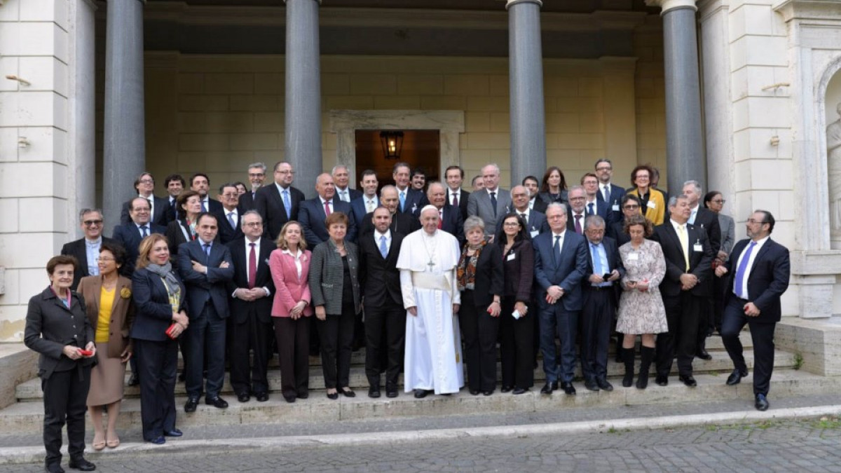
[[[233,317],[229,317],[233,318]],[[230,385],[240,394],[268,392],[267,369],[272,340],[272,322],[260,322],[249,314],[242,323],[230,321]],[[254,352],[251,378],[248,375],[248,352]]]

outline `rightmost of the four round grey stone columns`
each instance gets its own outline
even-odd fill
[[[666,82],[666,166],[669,193],[689,179],[706,183],[696,0],[646,0],[663,8]],[[706,189],[706,185],[704,185]]]

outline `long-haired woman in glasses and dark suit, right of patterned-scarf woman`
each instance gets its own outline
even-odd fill
[[[494,241],[502,250],[505,290],[500,316],[502,392],[523,394],[534,385],[534,316],[529,313],[534,281],[534,249],[520,215],[510,213]],[[516,312],[517,318],[512,314]]]

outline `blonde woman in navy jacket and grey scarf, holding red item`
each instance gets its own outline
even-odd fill
[[[137,268],[132,276],[135,323],[130,337],[140,372],[140,418],[143,439],[164,444],[181,437],[175,428],[176,342],[188,327],[184,284],[172,270],[167,237],[153,233],[140,242]]]

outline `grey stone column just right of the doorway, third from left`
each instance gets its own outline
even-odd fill
[[[540,0],[508,0],[511,186],[546,170]]]

